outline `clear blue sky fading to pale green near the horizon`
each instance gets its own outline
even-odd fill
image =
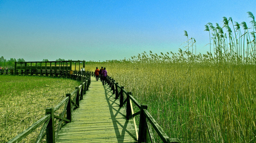
[[[146,51],[178,52],[184,30],[209,51],[207,23],[222,17],[251,24],[256,0],[0,0],[0,56],[26,61],[105,61]]]

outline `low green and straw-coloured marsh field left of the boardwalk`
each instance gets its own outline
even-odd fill
[[[2,75],[0,81],[0,143],[42,118],[46,108],[55,107],[80,84],[71,79],[36,76]],[[22,142],[34,142],[39,129]]]

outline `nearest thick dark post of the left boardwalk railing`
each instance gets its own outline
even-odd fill
[[[51,114],[51,118],[49,119],[49,123],[46,128],[46,142],[47,143],[55,143],[55,122],[54,122],[54,109],[46,108],[45,115]]]

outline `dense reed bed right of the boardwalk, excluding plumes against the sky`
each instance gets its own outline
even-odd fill
[[[147,104],[171,138],[256,141],[255,65],[113,61],[87,63],[86,70],[96,66],[107,67],[112,78]]]

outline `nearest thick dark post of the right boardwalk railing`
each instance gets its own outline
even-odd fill
[[[141,105],[140,108],[140,124],[139,124],[139,138],[138,143],[146,143],[147,130],[146,130],[146,116],[144,115],[143,109],[148,109],[148,106]]]

